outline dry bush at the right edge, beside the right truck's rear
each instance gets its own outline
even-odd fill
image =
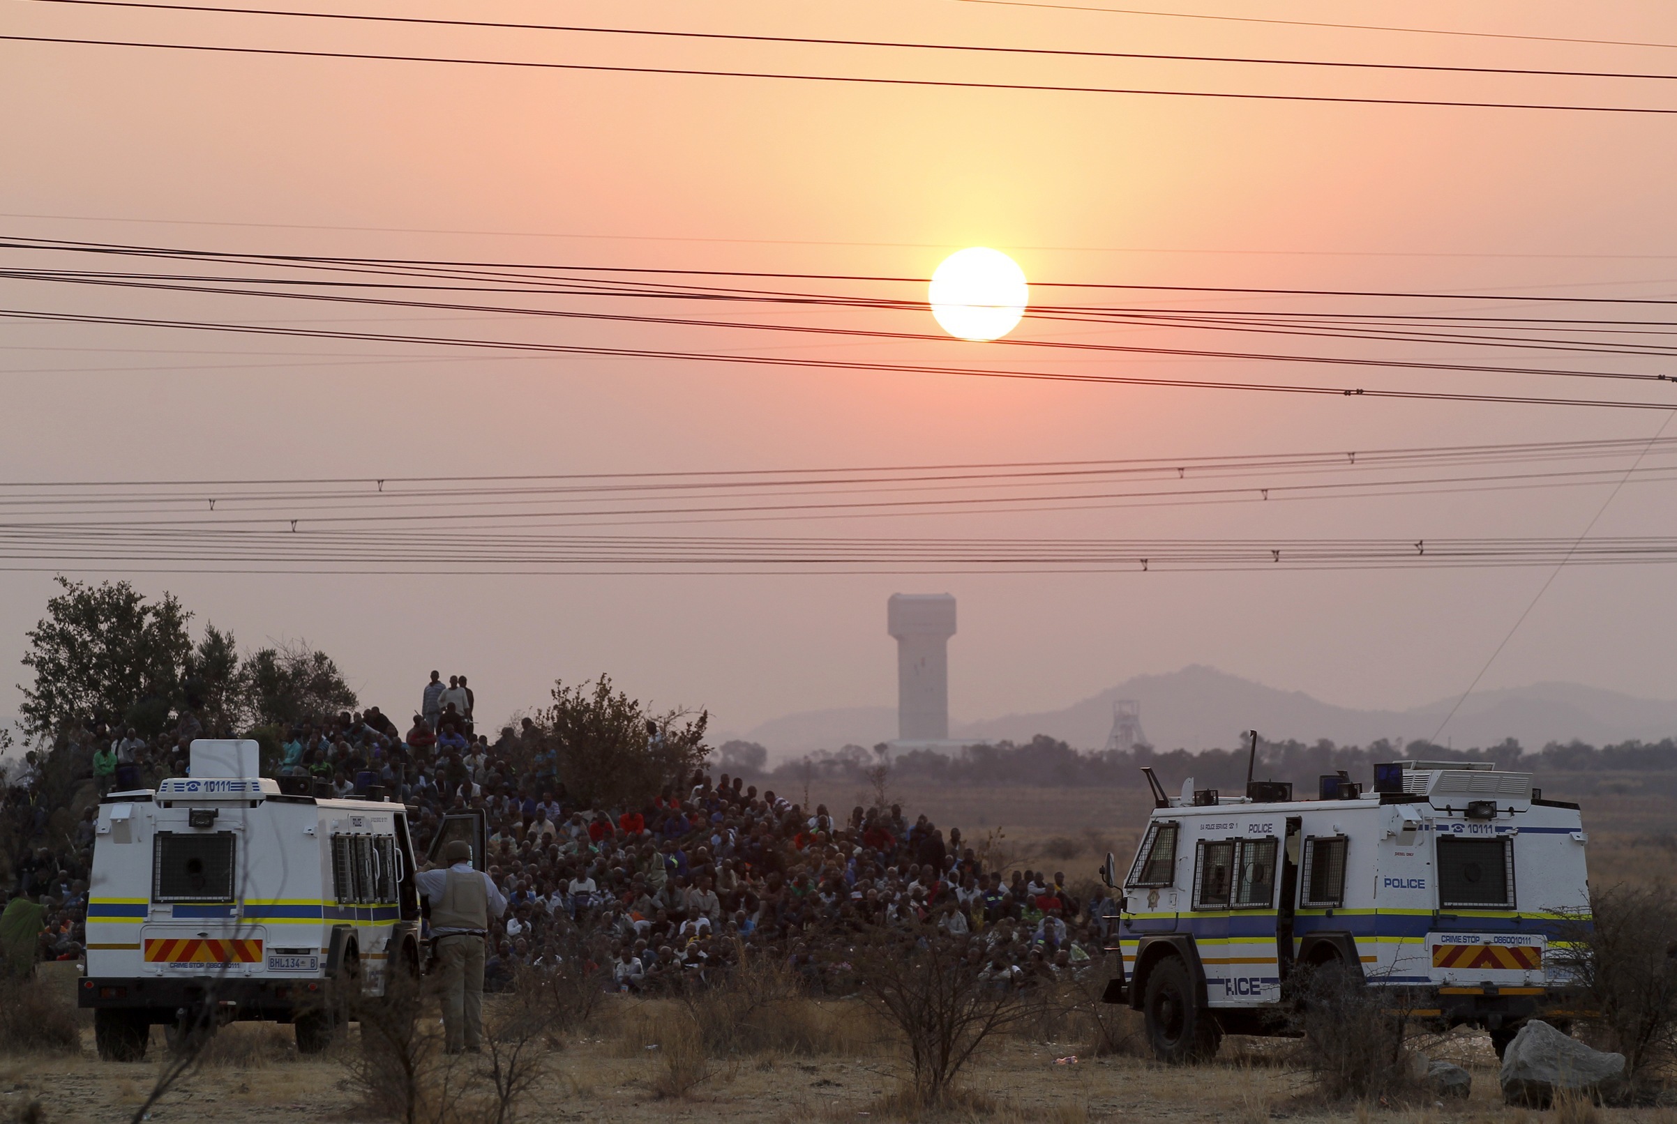
[[[1591,889],[1590,915],[1566,918],[1550,955],[1590,998],[1586,1030],[1638,1080],[1677,1055],[1677,891]]]

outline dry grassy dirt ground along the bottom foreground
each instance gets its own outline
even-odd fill
[[[22,1106],[40,1102],[40,1121],[117,1122],[132,1117],[149,1092],[163,1057],[139,1064],[99,1062],[91,1035],[80,1057],[0,1059],[0,1119],[27,1119]],[[889,1052],[847,1057],[750,1055],[713,1059],[686,1096],[659,1096],[666,1062],[661,1050],[620,1037],[582,1037],[550,1050],[545,1077],[520,1119],[654,1124],[713,1121],[812,1124],[892,1119],[885,1097],[897,1082]],[[1306,1077],[1288,1060],[1290,1044],[1228,1039],[1218,1060],[1197,1067],[1164,1067],[1132,1057],[1090,1057],[1078,1044],[1008,1037],[974,1062],[966,1080],[978,1096],[949,1121],[1085,1124],[1088,1121],[1179,1121],[1263,1124],[1264,1121],[1390,1121],[1390,1124],[1677,1124],[1674,1109],[1597,1109],[1566,1116],[1508,1109],[1496,1084],[1496,1057],[1484,1035],[1456,1032],[1432,1044],[1432,1057],[1466,1065],[1474,1077],[1467,1101],[1384,1109],[1321,1106]],[[149,1119],[163,1124],[292,1124],[295,1121],[367,1121],[339,1055],[299,1060],[290,1032],[243,1023],[225,1029],[216,1055],[169,1092]],[[632,1054],[632,1055],[629,1055]],[[1077,1055],[1075,1062],[1062,1062]],[[488,1119],[470,1116],[465,1119]]]

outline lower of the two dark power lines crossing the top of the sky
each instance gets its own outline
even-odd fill
[[[1335,106],[1430,106],[1449,109],[1538,109],[1556,112],[1590,112],[1590,114],[1677,114],[1677,107],[1659,106],[1578,106],[1563,102],[1484,102],[1484,101],[1451,101],[1424,97],[1345,97],[1328,94],[1254,94],[1236,90],[1162,90],[1144,87],[1114,85],[1053,85],[1036,82],[959,82],[953,79],[897,79],[865,77],[855,74],[793,74],[776,70],[718,70],[698,67],[627,67],[585,62],[532,62],[522,59],[461,59],[444,55],[394,55],[357,50],[292,50],[280,47],[228,47],[213,44],[163,44],[122,39],[77,39],[67,35],[0,35],[0,40],[15,44],[59,44],[72,47],[139,47],[146,50],[184,50],[231,55],[270,55],[287,59],[356,59],[371,62],[434,62],[448,65],[471,67],[515,67],[533,70],[574,70],[592,74],[664,74],[678,77],[711,77],[711,79],[771,79],[783,82],[840,82],[855,85],[882,87],[922,87],[922,89],[958,89],[958,90],[1023,90],[1038,94],[1122,94],[1135,97],[1197,97],[1251,102],[1315,102]]]

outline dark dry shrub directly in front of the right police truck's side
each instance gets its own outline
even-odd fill
[[[1340,963],[1301,968],[1288,988],[1296,1002],[1296,1029],[1303,1032],[1295,1059],[1316,1092],[1330,1101],[1387,1104],[1425,1096],[1399,988],[1368,987]]]

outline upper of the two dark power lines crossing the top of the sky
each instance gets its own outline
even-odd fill
[[[200,13],[216,13],[216,15],[265,15],[265,17],[285,17],[285,18],[305,18],[305,20],[337,20],[337,22],[361,22],[361,23],[401,23],[401,25],[419,25],[419,27],[476,27],[488,30],[513,30],[513,32],[563,32],[563,34],[580,34],[580,35],[626,35],[626,37],[647,37],[647,39],[689,39],[689,40],[713,40],[713,42],[736,42],[736,44],[783,44],[783,45],[805,45],[805,47],[875,47],[875,49],[892,49],[892,50],[927,50],[927,52],[954,52],[954,54],[991,54],[991,55],[1025,55],[1025,57],[1050,57],[1050,59],[1107,59],[1107,60],[1137,60],[1137,62],[1219,62],[1219,64],[1246,64],[1246,65],[1276,65],[1276,67],[1335,67],[1335,69],[1353,69],[1353,70],[1420,70],[1432,74],[1504,74],[1519,77],[1568,77],[1568,79],[1648,79],[1659,82],[1677,80],[1677,74],[1648,74],[1648,72],[1630,72],[1630,70],[1550,70],[1536,67],[1461,67],[1461,65],[1434,65],[1434,64],[1414,64],[1414,62],[1347,62],[1337,59],[1263,59],[1248,55],[1179,55],[1179,54],[1149,54],[1149,52],[1132,52],[1132,50],[1070,50],[1055,47],[994,47],[984,44],[924,44],[924,42],[904,42],[904,40],[885,40],[885,39],[818,39],[808,35],[743,35],[729,32],[678,32],[664,28],[641,28],[641,27],[590,27],[579,23],[513,23],[501,20],[446,20],[433,17],[416,17],[416,15],[369,15],[359,12],[287,12],[283,8],[241,8],[241,7],[225,7],[225,5],[203,5],[203,3],[149,3],[146,0],[29,0],[32,3],[62,3],[77,7],[94,7],[94,8],[143,8],[151,12],[200,12]]]

